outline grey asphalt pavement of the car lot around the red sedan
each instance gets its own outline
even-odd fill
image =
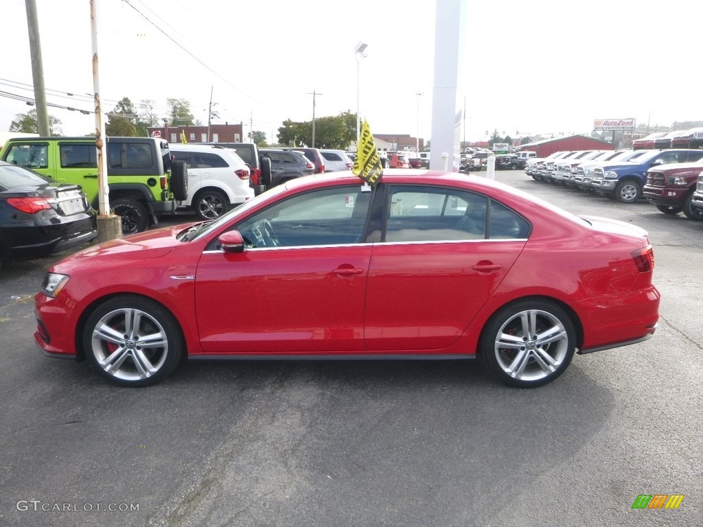
[[[649,230],[662,293],[652,339],[576,356],[535,390],[443,361],[189,363],[124,389],[41,356],[32,295],[56,258],[11,263],[0,271],[0,524],[696,524],[703,223],[522,171],[496,179]],[[632,509],[643,494],[685,497],[676,510]]]

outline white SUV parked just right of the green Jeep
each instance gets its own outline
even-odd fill
[[[234,150],[212,145],[169,145],[171,155],[188,166],[188,199],[201,219],[211,220],[254,197],[249,186],[250,169]]]

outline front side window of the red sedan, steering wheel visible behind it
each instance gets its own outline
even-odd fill
[[[372,194],[362,189],[354,185],[296,195],[257,212],[236,228],[250,248],[359,243]]]

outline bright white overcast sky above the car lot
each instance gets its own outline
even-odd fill
[[[431,138],[435,1],[95,1],[105,111],[129,97],[135,105],[152,100],[167,117],[166,99],[183,98],[207,123],[212,91],[218,122],[243,122],[245,134],[272,138],[285,119],[311,121],[313,110],[317,118],[358,105],[374,134]],[[588,134],[595,119],[635,118],[652,131],[703,120],[695,74],[702,2],[465,1],[462,139],[494,131]],[[94,110],[89,0],[36,4],[47,101]],[[25,0],[2,6],[6,131],[32,109],[13,97],[34,92]],[[360,41],[368,47],[358,58]],[[94,115],[49,114],[64,135],[96,127]]]

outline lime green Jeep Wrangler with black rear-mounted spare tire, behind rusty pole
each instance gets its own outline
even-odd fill
[[[188,171],[171,159],[169,143],[153,137],[108,137],[110,209],[122,216],[125,235],[158,223],[188,197]],[[98,209],[98,162],[95,138],[11,138],[0,158],[44,174],[60,183],[82,186]]]

